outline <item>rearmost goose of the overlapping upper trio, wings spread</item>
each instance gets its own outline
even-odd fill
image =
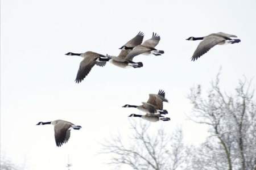
[[[126,59],[132,60],[139,54],[154,54],[155,56],[160,56],[164,51],[155,49],[155,46],[158,45],[159,41],[160,36],[153,32],[151,39],[144,41],[141,45],[135,46],[133,50],[127,54]]]

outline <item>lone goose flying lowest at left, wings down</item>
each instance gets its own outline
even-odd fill
[[[70,137],[70,130],[71,128],[75,130],[79,130],[82,126],[74,125],[71,122],[67,122],[64,120],[55,120],[51,122],[38,122],[36,125],[47,125],[51,124],[54,126],[54,135],[55,135],[55,142],[57,147],[63,145],[63,143],[67,143]]]

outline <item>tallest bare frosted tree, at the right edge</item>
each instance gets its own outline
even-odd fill
[[[194,155],[193,165],[203,162],[200,169],[256,170],[256,104],[251,82],[240,80],[235,95],[228,95],[220,89],[219,76],[211,82],[207,96],[202,95],[201,86],[192,88],[188,96],[193,104],[191,120],[209,125],[210,133]]]

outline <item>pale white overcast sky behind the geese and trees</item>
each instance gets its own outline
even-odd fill
[[[128,135],[130,113],[124,104],[140,104],[161,88],[170,103],[170,122],[152,124],[172,131],[182,125],[185,141],[200,143],[205,127],[185,120],[191,112],[189,88],[207,90],[222,66],[221,86],[228,92],[243,75],[256,74],[256,1],[1,1],[1,153],[26,169],[113,169],[100,142],[112,134]],[[139,31],[144,40],[157,32],[163,56],[138,56],[140,69],[108,63],[93,67],[74,82],[80,57],[67,52],[92,50],[117,55]],[[237,35],[240,44],[216,46],[196,62],[198,41],[190,36],[214,32]],[[253,87],[255,87],[255,80]],[[39,121],[63,119],[82,126],[57,148],[53,126]],[[138,119],[137,119],[138,120]],[[129,169],[129,168],[128,168]]]

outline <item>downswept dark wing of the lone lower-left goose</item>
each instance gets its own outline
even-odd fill
[[[54,126],[54,133],[55,133],[55,142],[57,147],[60,147],[64,143],[68,142],[68,139],[70,138],[70,122],[58,122]]]

